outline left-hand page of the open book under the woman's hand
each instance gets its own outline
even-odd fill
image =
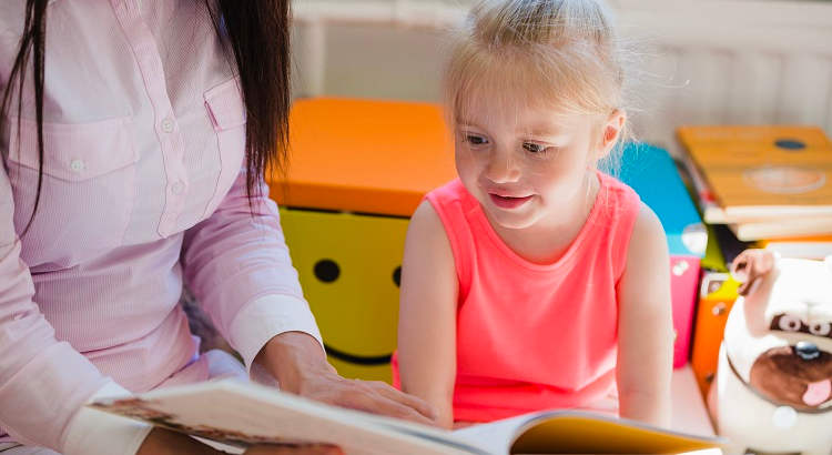
[[[240,447],[326,443],[346,454],[489,453],[455,439],[450,432],[227,380],[104,400],[91,406]]]

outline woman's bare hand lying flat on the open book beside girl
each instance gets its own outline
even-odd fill
[[[283,391],[336,406],[436,424],[433,408],[420,398],[383,382],[341,377],[326,362],[318,342],[305,333],[287,332],[275,336],[256,361],[277,378]]]

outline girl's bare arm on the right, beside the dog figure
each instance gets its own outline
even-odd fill
[[[645,204],[619,282],[618,393],[621,417],[670,426],[673,323],[664,232]]]

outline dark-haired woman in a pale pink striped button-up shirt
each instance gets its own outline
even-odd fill
[[[0,451],[207,453],[82,405],[246,371],[314,400],[432,418],[424,402],[326,363],[266,198],[264,169],[285,164],[288,9],[0,2]],[[183,283],[246,371],[197,354]]]

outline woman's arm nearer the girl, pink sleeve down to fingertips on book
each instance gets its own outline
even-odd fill
[[[387,384],[345,380],[326,362],[283,239],[277,205],[245,191],[245,171],[216,211],[185,233],[187,286],[245,365],[263,365],[281,388],[312,400],[433,423],[423,401]],[[252,370],[250,370],[252,371]]]

